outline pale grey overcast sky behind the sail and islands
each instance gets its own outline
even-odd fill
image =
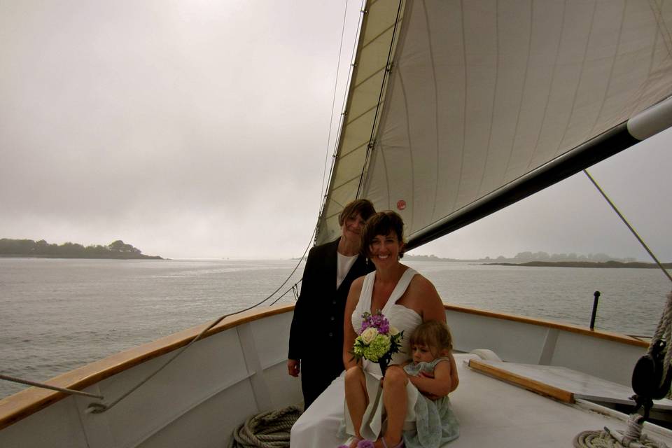
[[[332,151],[343,19],[339,1],[0,1],[0,237],[300,256]],[[665,261],[671,141],[591,169]],[[413,253],[520,251],[646,260],[583,174]]]

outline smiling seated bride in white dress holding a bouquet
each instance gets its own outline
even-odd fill
[[[374,214],[367,221],[362,237],[362,250],[376,270],[352,283],[345,309],[343,349],[346,375],[349,381],[360,381],[362,387],[360,393],[348,397],[347,412],[345,375],[335,379],[293,426],[292,448],[336,447],[343,441],[337,432],[344,420],[346,433],[354,436],[349,442],[352,447],[363,437],[375,440],[376,447],[396,447],[401,444],[402,430],[414,426],[413,407],[418,392],[399,367],[410,357],[407,338],[402,339],[403,353],[393,356],[384,377],[383,406],[375,407],[370,406],[370,396],[375,396],[380,370],[377,364],[365,362],[360,366],[353,359],[355,329],[360,328],[365,311],[381,311],[391,325],[410,334],[423,321],[445,322],[444,307],[433,284],[399,262],[404,241],[403,221],[398,214],[393,211]],[[451,362],[454,364],[454,360]],[[382,434],[381,412],[386,414]]]

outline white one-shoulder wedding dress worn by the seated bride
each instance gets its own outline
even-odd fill
[[[362,292],[359,297],[359,302],[355,311],[351,316],[352,326],[355,331],[358,331],[362,325],[362,314],[365,311],[372,312],[377,310],[371,309],[371,295],[373,292],[373,283],[375,279],[375,271],[367,274],[362,286]],[[412,309],[397,304],[397,300],[405,293],[411,279],[416,272],[408,268],[402,274],[397,286],[395,286],[387,303],[381,309],[382,314],[388,318],[390,324],[395,326],[398,330],[404,332],[402,339],[402,349],[399,353],[395,353],[392,358],[393,364],[403,363],[409,358],[409,335],[422,322],[422,318]],[[376,386],[380,378],[380,368],[377,364],[364,362],[364,370],[370,372],[367,374],[367,387],[369,385]],[[373,382],[372,382],[373,381]],[[407,403],[407,418],[406,421],[412,422],[414,420],[414,404],[417,398],[418,391],[412,386],[409,381],[407,391],[409,393],[409,401]],[[314,447],[332,447],[336,448],[339,444],[345,442],[344,438],[338,437],[337,433],[339,426],[344,421],[347,412],[345,409],[345,386],[344,386],[344,372],[336,378],[330,386],[313,402],[308,409],[300,416],[294,423],[291,431],[290,446],[292,448],[314,448]],[[372,389],[370,388],[370,395]],[[372,409],[372,413],[376,414],[372,419],[372,424],[368,431],[370,434],[365,434],[365,428],[362,428],[364,437],[370,437],[370,440],[375,440],[377,431],[380,428],[380,407]],[[375,434],[374,434],[375,433]]]

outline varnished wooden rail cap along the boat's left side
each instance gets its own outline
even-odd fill
[[[236,316],[225,318],[214,326],[214,328],[208,330],[202,339],[244,323],[257,321],[276,314],[287,313],[293,309],[294,305],[275,305],[264,309],[245,311]],[[197,325],[153,342],[148,342],[148,344],[121,351],[120,353],[60,374],[44,382],[52,386],[71,388],[78,391],[83,390],[92,384],[96,384],[131,367],[186,346],[211,323],[212,321],[203,325]],[[14,395],[10,395],[0,400],[0,430],[67,397],[68,395],[65,393],[37,387],[30,387]]]

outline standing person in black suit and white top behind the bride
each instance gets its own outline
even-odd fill
[[[374,269],[360,255],[361,231],[374,213],[369,200],[350,202],[338,217],[341,236],[308,253],[287,356],[288,373],[301,372],[304,409],[344,370],[345,302],[352,281]]]

